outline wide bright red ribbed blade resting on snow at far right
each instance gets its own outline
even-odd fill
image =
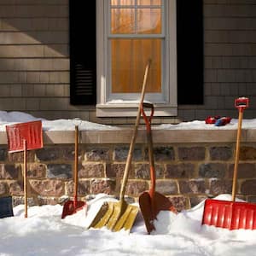
[[[207,199],[202,224],[229,230],[255,230],[256,204]]]

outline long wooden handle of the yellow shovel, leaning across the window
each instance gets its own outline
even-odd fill
[[[146,66],[145,73],[144,73],[143,90],[142,90],[142,94],[141,94],[141,99],[140,99],[139,106],[137,109],[137,118],[136,118],[134,130],[133,130],[133,135],[131,137],[131,144],[130,144],[130,148],[129,148],[129,152],[128,152],[128,156],[127,156],[127,160],[126,160],[126,164],[125,164],[125,172],[124,172],[123,182],[121,184],[121,189],[120,189],[120,195],[119,195],[120,201],[124,201],[125,186],[126,186],[126,183],[128,180],[129,170],[131,167],[132,153],[133,153],[133,149],[134,149],[136,138],[137,138],[137,130],[138,130],[138,125],[140,123],[140,117],[141,117],[141,108],[140,107],[141,107],[141,104],[143,103],[145,92],[146,92],[148,69],[150,67],[150,64],[151,64],[151,60],[148,60],[148,64]]]

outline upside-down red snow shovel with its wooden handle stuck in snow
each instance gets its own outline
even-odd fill
[[[23,151],[24,217],[27,218],[26,151],[44,147],[42,121],[6,125],[6,133],[9,153]]]

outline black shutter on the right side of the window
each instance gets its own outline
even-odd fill
[[[203,3],[177,0],[177,103],[203,103]]]

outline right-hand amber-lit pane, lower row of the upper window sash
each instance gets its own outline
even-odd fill
[[[160,34],[161,11],[160,9],[137,9],[137,33]]]

